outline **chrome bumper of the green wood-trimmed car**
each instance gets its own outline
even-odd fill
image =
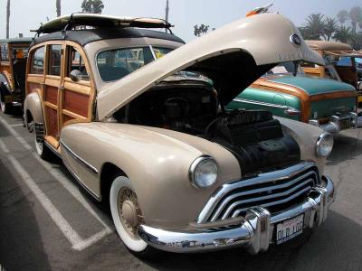
[[[350,126],[342,126],[343,121],[350,121]],[[329,123],[320,125],[318,119],[310,119],[310,125],[318,126],[322,130],[329,132],[331,134],[338,133],[341,130],[345,130],[348,128],[355,128],[362,126],[362,116],[357,116],[357,113],[350,112],[347,116],[338,117],[332,116],[329,118]]]

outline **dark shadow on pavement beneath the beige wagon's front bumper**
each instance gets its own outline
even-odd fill
[[[243,249],[194,255],[160,252],[145,264],[158,270],[361,270],[357,248],[362,248],[362,227],[330,210],[320,228],[256,256]]]

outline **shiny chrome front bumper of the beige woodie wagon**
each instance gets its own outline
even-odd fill
[[[310,196],[300,204],[271,214],[262,207],[249,209],[238,225],[214,229],[157,229],[146,225],[138,228],[139,236],[149,246],[176,253],[193,253],[225,248],[244,247],[252,254],[266,251],[274,243],[274,229],[283,220],[304,214],[304,229],[319,226],[327,219],[330,204],[335,200],[333,182],[326,176]]]

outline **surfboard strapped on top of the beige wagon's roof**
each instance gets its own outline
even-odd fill
[[[54,33],[77,25],[92,27],[139,27],[139,28],[170,28],[173,25],[162,19],[117,17],[101,14],[68,14],[43,23],[37,33]]]

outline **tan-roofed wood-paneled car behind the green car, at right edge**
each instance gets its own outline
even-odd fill
[[[306,74],[318,78],[335,79],[346,82],[357,89],[358,103],[362,102],[362,89],[358,84],[356,58],[362,57],[362,52],[342,42],[306,41],[311,49],[323,57],[326,65],[302,63]]]

